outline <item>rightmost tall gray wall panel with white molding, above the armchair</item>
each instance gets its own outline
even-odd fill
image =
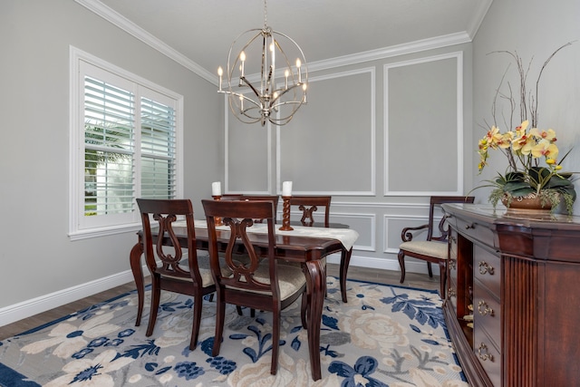
[[[463,189],[462,57],[383,66],[385,196],[459,195]]]

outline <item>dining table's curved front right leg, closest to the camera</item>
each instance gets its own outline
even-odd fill
[[[324,294],[326,293],[326,273],[320,260],[308,261],[304,267],[307,291],[310,294],[307,315],[308,352],[310,353],[312,377],[314,381],[317,381],[322,377],[320,368],[320,324],[323,315]]]

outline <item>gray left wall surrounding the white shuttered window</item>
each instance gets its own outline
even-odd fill
[[[197,202],[223,170],[215,86],[73,0],[3,1],[0,36],[0,309],[127,282],[134,233],[67,237],[69,45],[184,96],[185,196]]]

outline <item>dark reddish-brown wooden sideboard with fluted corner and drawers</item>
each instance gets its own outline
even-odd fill
[[[470,385],[580,385],[580,218],[443,208],[443,313]]]

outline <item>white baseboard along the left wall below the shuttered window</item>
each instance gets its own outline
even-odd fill
[[[145,269],[147,270],[147,269]],[[49,295],[42,295],[22,303],[0,308],[0,326],[12,324],[23,318],[72,303],[90,295],[96,295],[115,286],[124,285],[133,280],[131,270],[96,279],[86,284],[76,285]]]

